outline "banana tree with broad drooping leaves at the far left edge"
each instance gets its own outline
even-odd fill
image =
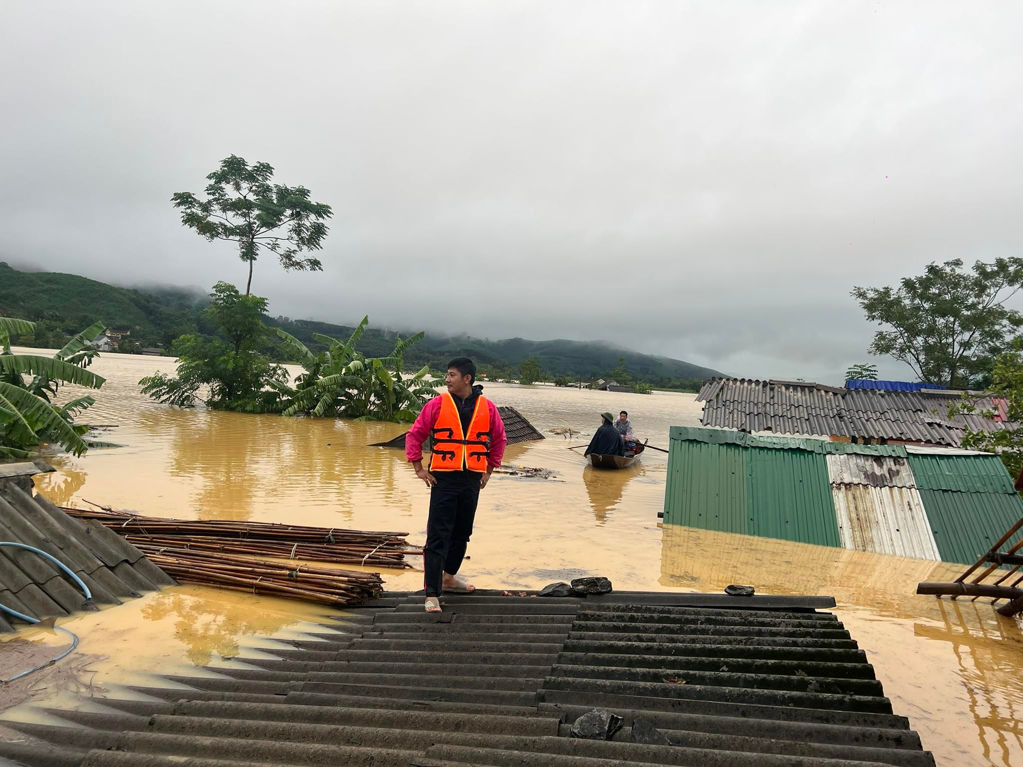
[[[88,426],[75,423],[75,415],[93,404],[91,397],[80,397],[55,407],[50,396],[59,384],[74,384],[99,389],[104,378],[84,368],[95,356],[92,342],[102,332],[102,323],[79,333],[53,357],[14,354],[10,348],[13,334],[31,333],[35,323],[0,317],[0,455],[24,457],[26,448],[40,442],[54,442],[75,455],[88,449],[83,435]],[[74,361],[72,361],[74,360]],[[31,375],[29,384],[25,376]]]

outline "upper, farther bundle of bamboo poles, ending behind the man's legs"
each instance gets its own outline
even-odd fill
[[[135,546],[189,549],[207,554],[272,556],[374,568],[409,568],[408,533],[317,528],[263,522],[171,520],[108,508],[62,507],[79,520],[95,520]]]

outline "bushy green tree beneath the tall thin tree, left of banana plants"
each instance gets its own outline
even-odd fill
[[[158,402],[190,407],[206,387],[207,407],[247,413],[280,409],[275,385],[287,380],[287,372],[260,353],[267,328],[261,320],[267,301],[241,296],[234,285],[218,282],[203,313],[227,341],[188,333],[174,342],[178,357],[175,376],[158,372],[139,381],[142,393]]]

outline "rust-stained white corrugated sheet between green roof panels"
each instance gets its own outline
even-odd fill
[[[833,484],[832,495],[845,548],[941,559],[916,488]]]

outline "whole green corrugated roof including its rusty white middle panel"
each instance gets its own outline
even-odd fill
[[[666,524],[972,563],[1023,516],[988,453],[673,426]]]

